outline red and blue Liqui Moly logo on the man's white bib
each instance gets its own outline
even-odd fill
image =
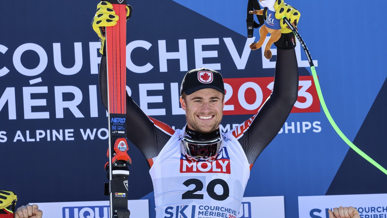
[[[226,147],[218,153],[217,159],[212,162],[196,161],[192,162],[182,154],[180,158],[180,172],[208,172],[208,173],[231,173],[230,158]]]

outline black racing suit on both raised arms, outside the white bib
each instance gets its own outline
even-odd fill
[[[102,103],[108,108],[106,56],[101,57],[99,91]],[[272,94],[259,112],[245,123],[250,126],[242,134],[235,135],[247,156],[250,169],[259,154],[276,137],[289,116],[298,93],[298,65],[295,49],[277,49],[277,62]],[[130,125],[129,125],[130,123]],[[173,135],[174,130],[165,123],[148,117],[127,95],[127,138],[152,165],[152,158]]]

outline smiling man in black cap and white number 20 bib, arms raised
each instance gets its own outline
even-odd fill
[[[290,10],[283,3],[280,8]],[[100,37],[99,27],[115,25],[114,20],[118,17],[110,3],[99,3],[93,28]],[[157,218],[237,216],[253,163],[277,135],[297,100],[298,66],[295,44],[290,43],[294,37],[283,33],[276,42],[271,96],[256,115],[227,133],[219,130],[225,90],[217,71],[199,68],[185,75],[180,103],[187,125],[181,130],[147,116],[127,95],[127,138],[149,163]],[[101,42],[99,83],[107,108],[103,38]]]

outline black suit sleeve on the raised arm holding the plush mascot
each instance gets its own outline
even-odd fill
[[[250,124],[250,126],[238,138],[249,164],[253,164],[259,154],[276,137],[296,103],[297,94],[298,64],[295,49],[277,49],[272,94],[259,112],[245,122],[245,125]]]

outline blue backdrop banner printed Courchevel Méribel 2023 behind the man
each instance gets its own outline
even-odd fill
[[[24,0],[2,6],[0,190],[14,191],[18,206],[108,200],[103,195],[108,121],[99,96],[100,42],[91,27],[97,3]],[[127,91],[147,115],[182,128],[179,87],[185,73],[199,67],[223,75],[223,131],[252,117],[270,95],[276,49],[269,61],[262,49],[248,48],[259,31],[247,38],[247,0],[128,3],[134,12],[127,21]],[[331,6],[286,3],[301,12],[298,30],[333,119],[386,168],[383,7],[375,6],[370,19],[358,9],[364,4],[360,0]],[[301,214],[299,196],[387,193],[387,176],[349,149],[330,126],[299,45],[296,53],[298,101],[255,162],[245,197],[284,196],[285,216],[292,218]],[[149,217],[154,217],[146,160],[132,144],[129,153],[129,199],[149,199]]]

